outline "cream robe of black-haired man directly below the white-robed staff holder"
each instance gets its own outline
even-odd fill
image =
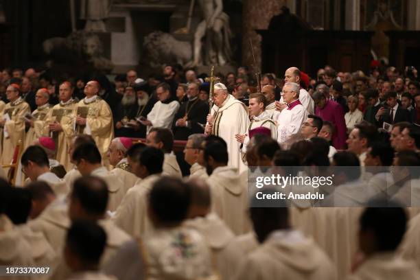
[[[223,166],[213,170],[207,183],[211,190],[211,209],[227,226],[240,235],[250,231],[248,186],[234,167]]]

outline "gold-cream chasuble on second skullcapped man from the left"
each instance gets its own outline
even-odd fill
[[[30,145],[34,145],[34,141],[41,136],[48,136],[45,133],[45,126],[47,124],[47,115],[51,110],[51,105],[45,104],[43,106],[38,106],[34,112],[32,112],[32,117],[34,121],[34,127],[30,127],[27,130],[25,135],[25,149]]]

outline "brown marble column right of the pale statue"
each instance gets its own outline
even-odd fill
[[[296,11],[295,0],[244,0],[242,7],[242,65],[251,71],[261,69],[261,36],[255,30],[267,29],[272,16],[280,13],[280,8],[288,5],[290,12]],[[289,5],[292,5],[290,7]],[[251,54],[250,41],[253,43],[256,65]],[[256,69],[255,69],[256,68]]]

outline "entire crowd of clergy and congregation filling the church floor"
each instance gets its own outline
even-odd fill
[[[145,80],[1,71],[0,264],[45,279],[420,277],[416,69],[215,76],[209,93],[170,65]],[[253,172],[332,167],[324,201],[253,207]]]

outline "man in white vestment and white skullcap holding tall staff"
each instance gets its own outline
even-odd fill
[[[207,119],[206,135],[213,134],[222,137],[227,144],[229,163],[238,172],[246,170],[240,153],[240,143],[235,135],[244,135],[248,132],[249,117],[244,103],[235,99],[227,92],[224,84],[214,85],[213,108]]]

